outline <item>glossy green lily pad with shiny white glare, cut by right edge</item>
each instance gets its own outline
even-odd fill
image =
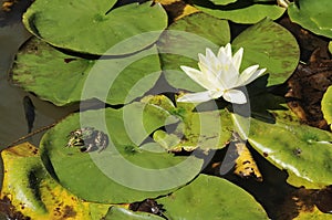
[[[271,164],[287,170],[290,185],[313,189],[331,185],[332,134],[301,124],[290,111],[272,114],[274,123],[250,119],[247,138],[252,147]]]

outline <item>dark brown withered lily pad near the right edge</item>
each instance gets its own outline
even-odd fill
[[[299,64],[288,85],[291,109],[309,125],[329,129],[321,111],[321,99],[332,85],[332,60],[322,59],[320,49],[315,50],[308,64]]]

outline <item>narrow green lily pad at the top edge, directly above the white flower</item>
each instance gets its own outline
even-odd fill
[[[208,1],[193,1],[195,7],[205,13],[219,19],[227,19],[236,23],[257,23],[264,18],[276,20],[286,11],[277,4],[251,3],[251,1],[236,1],[228,6],[215,6]]]

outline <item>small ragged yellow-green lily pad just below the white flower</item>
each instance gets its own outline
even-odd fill
[[[234,124],[231,114],[226,109],[217,109],[217,106],[211,106],[215,107],[211,111],[204,109],[209,103],[200,106],[176,103],[175,107],[164,95],[149,96],[143,101],[160,106],[180,118],[172,132],[159,129],[153,135],[154,140],[167,150],[219,149],[231,138]]]

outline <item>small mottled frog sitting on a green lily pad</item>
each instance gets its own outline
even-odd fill
[[[93,127],[77,128],[69,134],[66,147],[80,147],[82,153],[94,150],[102,151],[108,145],[108,137],[105,133]]]

